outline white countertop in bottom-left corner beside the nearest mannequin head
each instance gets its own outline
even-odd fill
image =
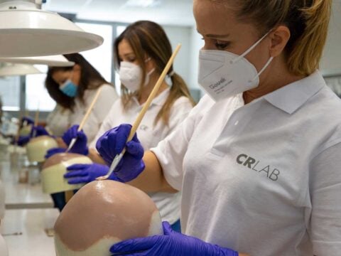
[[[9,256],[55,256],[53,237],[48,237],[45,228],[53,228],[58,218],[57,209],[6,210],[1,221]],[[6,235],[13,233],[22,235]]]

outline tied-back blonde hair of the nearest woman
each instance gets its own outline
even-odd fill
[[[256,23],[262,35],[276,26],[288,26],[291,38],[285,53],[291,73],[310,75],[318,69],[327,41],[332,0],[227,1],[237,8],[241,21]]]

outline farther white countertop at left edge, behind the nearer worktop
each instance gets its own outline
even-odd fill
[[[53,208],[52,198],[43,193],[41,183],[31,185],[18,182],[20,170],[21,168],[11,168],[9,156],[1,159],[0,179],[6,191],[6,208]],[[38,174],[38,169],[31,173]]]

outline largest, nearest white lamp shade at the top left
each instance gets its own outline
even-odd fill
[[[96,48],[101,36],[28,1],[0,1],[0,57],[77,53]]]

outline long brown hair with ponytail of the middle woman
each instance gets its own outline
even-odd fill
[[[146,56],[154,61],[156,64],[155,72],[158,75],[161,75],[172,55],[171,43],[169,42],[165,31],[163,31],[163,28],[157,23],[152,21],[137,21],[132,23],[115,40],[114,58],[117,66],[120,65],[119,43],[121,43],[121,41],[124,39],[133,49],[136,59],[143,70],[143,78],[140,85],[140,88],[142,88],[144,83],[143,81],[146,79]],[[160,119],[162,119],[165,124],[168,124],[171,107],[175,100],[181,96],[188,97],[190,102],[195,105],[185,81],[180,77],[180,75],[174,73],[173,65],[168,71],[168,75],[171,76],[173,85],[171,86],[170,95],[168,95],[165,104],[163,104],[163,107],[156,116],[154,124],[156,124]],[[122,103],[124,107],[126,107],[129,104],[131,97],[133,97],[135,94],[133,95],[129,93],[124,86],[121,87],[121,92]],[[139,95],[137,96],[139,97]]]

